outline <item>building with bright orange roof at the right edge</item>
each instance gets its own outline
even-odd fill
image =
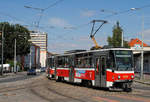
[[[133,50],[134,53],[134,65],[135,72],[140,72],[141,70],[141,50],[142,50],[142,41],[138,38],[131,39],[129,42],[129,46]],[[143,72],[150,74],[150,46],[143,42]]]

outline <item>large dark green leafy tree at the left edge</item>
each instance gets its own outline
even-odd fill
[[[4,58],[5,60],[14,58],[14,44],[16,39],[16,54],[26,55],[30,52],[30,33],[27,28],[19,24],[0,23],[0,31],[4,27]],[[0,36],[1,39],[1,36]],[[1,55],[1,54],[0,54]]]

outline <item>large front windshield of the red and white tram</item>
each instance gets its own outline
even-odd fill
[[[115,51],[115,60],[118,70],[131,70],[133,67],[132,51]]]

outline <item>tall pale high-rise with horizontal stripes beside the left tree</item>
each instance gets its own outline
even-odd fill
[[[46,67],[46,59],[47,59],[47,33],[31,31],[30,32],[31,39],[30,41],[40,47],[40,63],[41,67]]]

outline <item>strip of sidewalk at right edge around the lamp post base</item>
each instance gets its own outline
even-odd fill
[[[140,79],[140,73],[135,73],[135,82],[150,85],[150,75],[149,74],[143,74],[143,79]]]

